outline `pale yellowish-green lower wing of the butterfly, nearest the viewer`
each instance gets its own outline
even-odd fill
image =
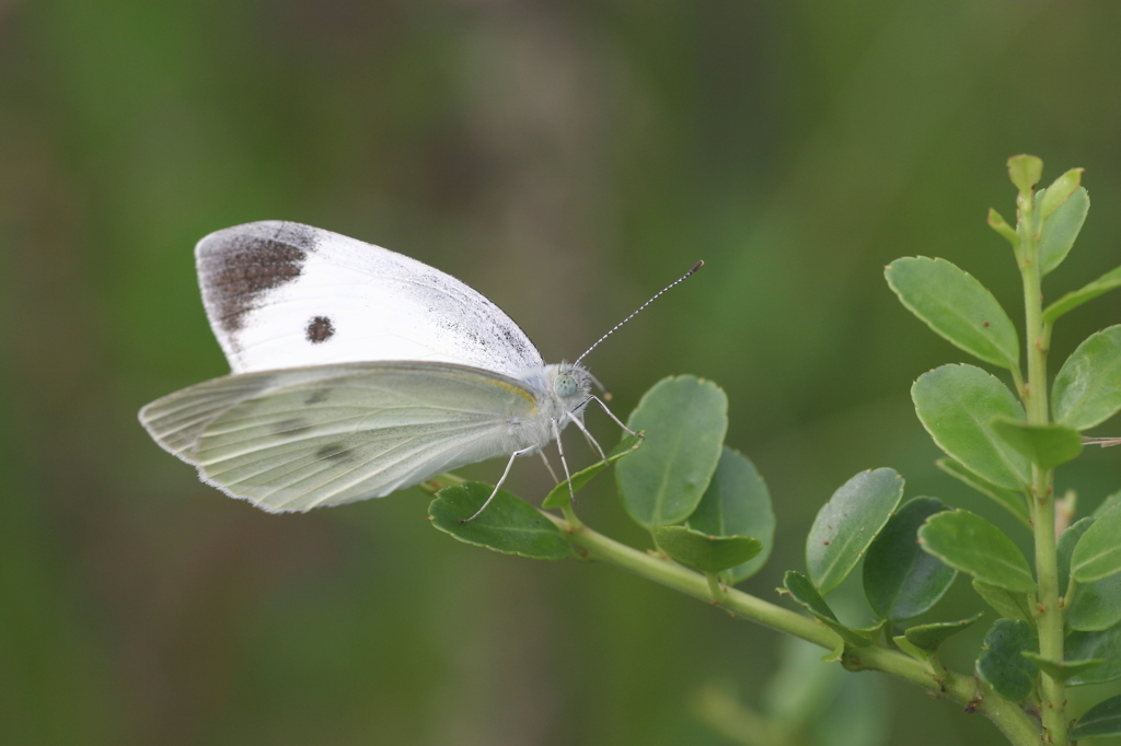
[[[140,421],[228,495],[306,511],[544,446],[539,403],[479,369],[351,363],[214,379],[148,404]]]

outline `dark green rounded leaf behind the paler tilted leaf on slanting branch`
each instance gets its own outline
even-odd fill
[[[881,619],[910,619],[927,610],[949,588],[957,571],[924,552],[918,528],[948,510],[934,497],[917,497],[888,521],[864,558],[864,595]]]

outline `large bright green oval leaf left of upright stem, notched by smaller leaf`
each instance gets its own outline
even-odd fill
[[[1025,420],[1003,383],[973,365],[943,365],[911,386],[915,411],[934,441],[965,468],[1006,489],[1029,484],[1031,464],[993,431],[992,418]]]

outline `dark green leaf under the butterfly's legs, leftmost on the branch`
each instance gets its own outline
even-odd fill
[[[433,525],[460,541],[503,554],[553,560],[571,556],[568,542],[553,521],[506,489],[498,491],[479,517],[460,523],[482,507],[493,489],[480,482],[441,489],[428,506]]]

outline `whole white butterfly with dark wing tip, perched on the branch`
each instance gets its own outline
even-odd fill
[[[265,221],[207,235],[195,259],[231,374],[151,402],[140,422],[231,497],[307,511],[507,456],[493,497],[515,458],[560,448],[568,422],[589,435],[590,402],[627,429],[592,393],[586,352],[546,365],[498,306],[408,257]]]

